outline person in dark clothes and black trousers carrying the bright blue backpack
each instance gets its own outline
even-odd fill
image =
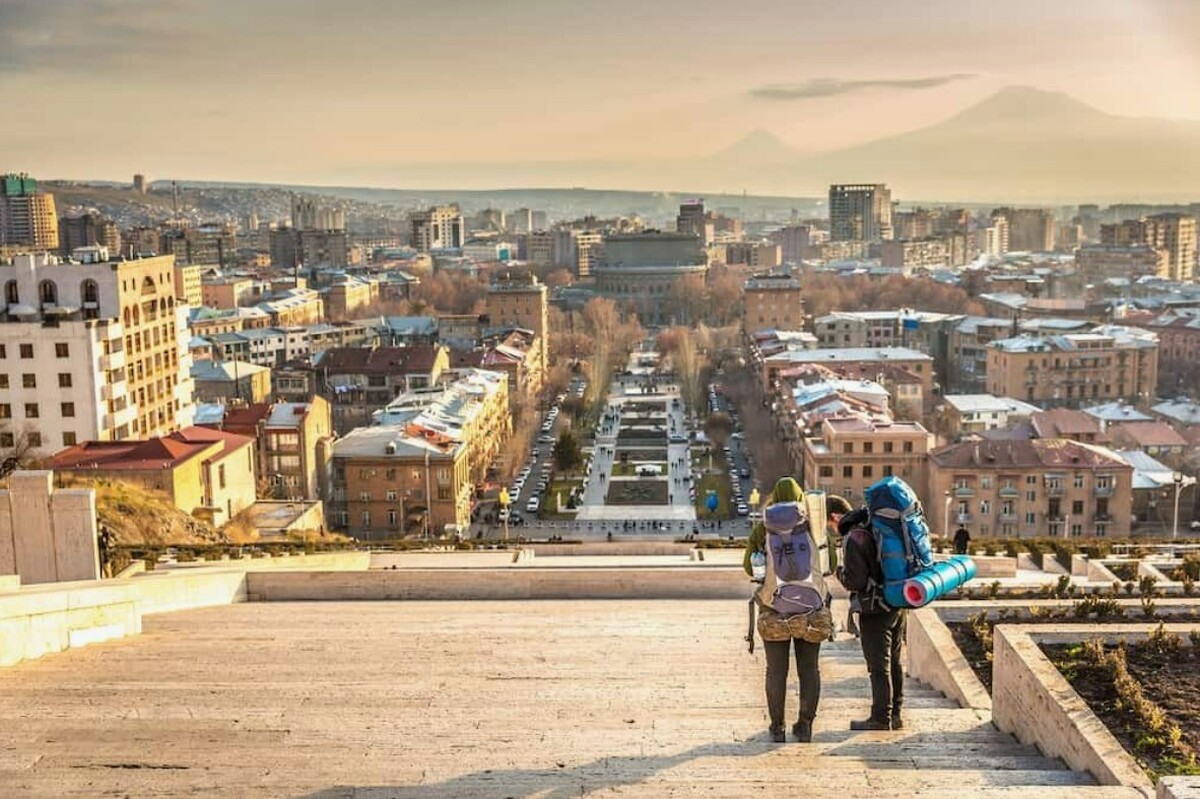
[[[858,613],[863,657],[871,681],[871,715],[851,721],[851,729],[901,729],[904,662],[901,650],[907,629],[904,608],[883,601],[883,569],[880,565],[870,515],[859,507],[839,524],[842,549],[838,581],[850,591],[851,612]]]

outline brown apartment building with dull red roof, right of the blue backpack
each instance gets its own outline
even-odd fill
[[[1122,539],[1130,533],[1133,467],[1068,439],[976,440],[929,455],[925,512],[940,535]]]

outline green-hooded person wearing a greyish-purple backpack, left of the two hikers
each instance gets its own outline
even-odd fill
[[[748,575],[756,582],[761,581],[761,588],[755,594],[757,631],[767,656],[767,715],[770,719],[770,739],[775,743],[787,739],[784,714],[793,650],[800,707],[792,734],[802,743],[812,740],[812,721],[821,701],[821,642],[833,631],[826,570],[817,565],[821,558],[828,563],[828,551],[818,551],[804,516],[803,500],[804,492],[796,480],[781,477],[775,483],[763,511],[763,521],[750,530],[742,563]],[[782,521],[776,524],[778,519]],[[790,519],[794,521],[794,525]],[[802,595],[806,595],[806,603],[797,602],[796,612],[788,612],[788,602]]]

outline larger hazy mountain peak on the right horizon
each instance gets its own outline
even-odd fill
[[[809,158],[793,179],[809,191],[883,181],[902,198],[1193,199],[1200,122],[1116,116],[1064,94],[1010,86],[930,127]]]

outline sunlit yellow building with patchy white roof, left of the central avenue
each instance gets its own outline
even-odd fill
[[[461,441],[472,482],[480,483],[512,434],[509,379],[500,372],[467,368],[454,383],[400,395],[376,411],[373,421],[403,425],[410,435],[433,431]]]

